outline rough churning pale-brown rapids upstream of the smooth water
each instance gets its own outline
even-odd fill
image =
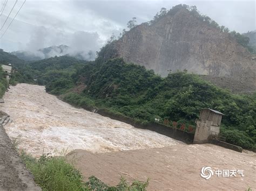
[[[11,86],[0,110],[12,120],[4,127],[8,136],[35,157],[76,149],[105,153],[182,144],[159,133],[72,107],[46,93],[43,86]]]

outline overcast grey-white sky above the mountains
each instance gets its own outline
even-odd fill
[[[0,0],[0,10],[4,0]],[[23,1],[18,0],[0,37]],[[97,51],[112,33],[119,34],[132,17],[147,22],[162,8],[177,4],[196,5],[198,10],[230,30],[255,30],[255,1],[39,1],[27,0],[2,39],[7,52],[34,51],[52,45],[69,45],[77,51]],[[9,0],[0,17],[0,29],[14,0]],[[1,13],[1,12],[0,12]]]

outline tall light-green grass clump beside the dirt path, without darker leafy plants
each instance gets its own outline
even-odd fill
[[[35,159],[22,152],[21,158],[43,190],[86,190],[82,174],[68,164],[64,157],[42,155]]]

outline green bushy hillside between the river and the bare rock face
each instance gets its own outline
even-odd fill
[[[30,63],[26,71],[46,91],[83,108],[103,108],[114,115],[147,124],[159,118],[194,126],[199,111],[212,108],[225,114],[221,134],[227,142],[255,147],[256,93],[235,95],[196,74],[171,73],[125,63],[123,59],[80,62],[65,56]]]

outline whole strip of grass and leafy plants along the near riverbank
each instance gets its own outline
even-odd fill
[[[149,180],[134,181],[131,185],[121,178],[116,187],[107,186],[95,176],[91,176],[87,182],[73,165],[69,164],[65,157],[51,157],[43,154],[39,159],[21,152],[21,158],[26,167],[35,177],[35,182],[43,190],[146,190]]]

